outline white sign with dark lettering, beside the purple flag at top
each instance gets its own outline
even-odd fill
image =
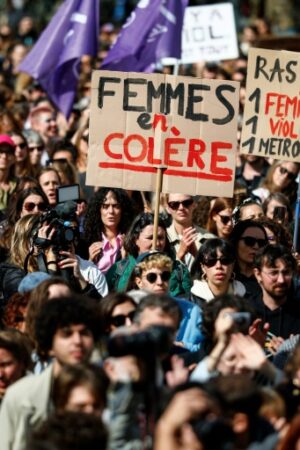
[[[232,3],[186,8],[181,62],[220,61],[238,57]]]

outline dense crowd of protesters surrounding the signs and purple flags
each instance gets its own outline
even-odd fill
[[[82,57],[68,120],[38,81],[18,73],[38,38],[25,7],[41,2],[8,3],[0,449],[299,449],[299,164],[237,149],[232,198],[87,186],[91,72],[137,2],[107,2],[112,23],[100,28],[97,58]],[[290,15],[286,32],[296,22],[292,1],[233,3],[253,19],[240,57],[180,70],[239,81],[241,125],[247,51],[278,28],[259,11]],[[79,194],[59,202],[70,185]]]

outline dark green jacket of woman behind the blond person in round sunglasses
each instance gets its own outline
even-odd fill
[[[106,273],[109,291],[125,291],[134,266],[135,258],[132,255],[113,264]],[[181,261],[175,260],[170,279],[170,295],[189,298],[192,284],[188,268]]]

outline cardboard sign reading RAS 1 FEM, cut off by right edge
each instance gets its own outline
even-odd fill
[[[251,49],[241,152],[300,162],[300,55]]]

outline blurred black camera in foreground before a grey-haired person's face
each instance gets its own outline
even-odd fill
[[[144,360],[169,353],[174,340],[174,330],[163,325],[152,325],[134,334],[116,334],[108,340],[110,356],[135,355]]]

